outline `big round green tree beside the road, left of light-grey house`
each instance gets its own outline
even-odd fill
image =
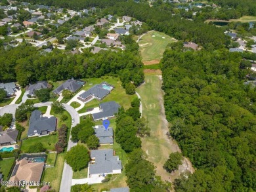
[[[89,151],[83,145],[76,145],[66,153],[65,159],[73,171],[81,170],[88,166],[90,161]]]

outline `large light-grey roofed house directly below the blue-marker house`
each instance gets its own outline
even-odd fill
[[[121,174],[122,164],[113,149],[91,150],[89,163],[89,178],[97,178],[108,174]]]

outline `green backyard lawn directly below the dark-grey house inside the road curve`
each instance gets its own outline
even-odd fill
[[[35,137],[35,138],[28,138],[27,140],[23,140],[21,150],[23,152],[28,151],[31,145],[35,145],[37,143],[42,143],[43,147],[49,151],[54,151],[54,145],[58,141],[58,136],[42,136],[42,137]]]

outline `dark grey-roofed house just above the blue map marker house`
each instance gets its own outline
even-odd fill
[[[108,119],[115,116],[116,113],[118,113],[119,104],[116,102],[106,102],[100,104],[100,112],[93,113],[93,120],[99,121],[102,119]]]

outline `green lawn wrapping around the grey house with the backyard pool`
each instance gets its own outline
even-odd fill
[[[86,109],[91,107],[97,107],[98,104],[104,103],[104,102],[110,102],[110,101],[116,101],[117,104],[120,106],[123,106],[125,109],[128,109],[131,107],[131,102],[134,98],[136,98],[136,94],[134,95],[128,95],[125,93],[125,89],[121,86],[121,81],[117,77],[102,77],[102,78],[89,78],[89,79],[83,79],[84,81],[87,81],[87,83],[83,86],[83,90],[88,90],[92,86],[95,86],[96,84],[102,83],[106,81],[110,85],[113,85],[115,88],[106,96],[103,100],[98,101],[94,99],[93,101],[85,104],[85,107],[80,109],[78,113],[85,113]]]

